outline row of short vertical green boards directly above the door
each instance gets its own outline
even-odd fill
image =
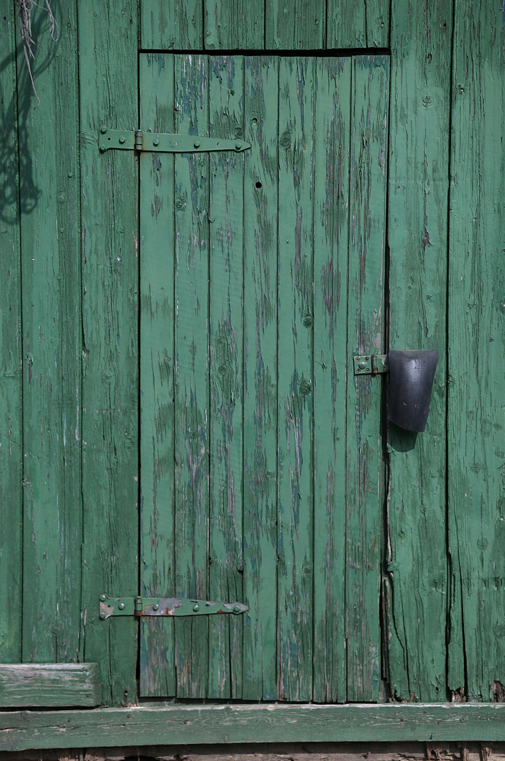
[[[387,47],[389,3],[140,0],[143,50]]]

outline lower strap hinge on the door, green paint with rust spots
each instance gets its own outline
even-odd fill
[[[243,603],[211,603],[182,597],[108,597],[100,594],[100,619],[110,616],[211,616],[214,613],[246,613]]]

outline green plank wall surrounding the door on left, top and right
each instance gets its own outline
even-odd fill
[[[503,700],[505,27],[500,0],[52,0],[33,95],[0,14],[0,653],[99,661],[135,702],[138,49],[390,49],[389,342],[440,352],[427,431],[389,431],[383,676],[398,699]],[[37,107],[36,107],[37,106]],[[377,379],[375,379],[377,380]],[[380,381],[379,381],[380,382]],[[21,605],[22,601],[22,605]]]

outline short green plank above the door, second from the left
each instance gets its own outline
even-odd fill
[[[264,42],[263,0],[206,0],[206,49],[261,50]]]

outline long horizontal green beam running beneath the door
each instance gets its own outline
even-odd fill
[[[0,713],[0,750],[156,743],[503,742],[505,704],[177,705]]]

